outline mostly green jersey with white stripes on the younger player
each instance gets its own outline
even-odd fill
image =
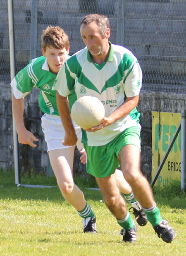
[[[70,56],[69,56],[70,57]],[[56,75],[50,72],[46,57],[41,56],[29,62],[18,72],[11,82],[15,98],[24,98],[34,87],[41,89],[39,94],[39,106],[44,113],[59,115],[56,103],[56,91],[52,90]],[[76,100],[74,89],[69,95],[69,103]]]

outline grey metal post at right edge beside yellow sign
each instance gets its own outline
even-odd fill
[[[181,189],[186,181],[186,110],[181,110]]]

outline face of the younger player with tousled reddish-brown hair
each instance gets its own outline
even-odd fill
[[[69,48],[66,50],[63,49],[55,49],[55,48],[47,48],[46,51],[42,49],[43,56],[47,58],[48,67],[50,72],[57,74],[60,70],[60,67],[63,65],[64,61],[69,54]]]

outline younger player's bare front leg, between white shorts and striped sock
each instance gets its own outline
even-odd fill
[[[83,192],[74,184],[72,175],[74,161],[74,147],[49,151],[50,163],[55,173],[57,184],[67,202],[77,211],[86,206]]]

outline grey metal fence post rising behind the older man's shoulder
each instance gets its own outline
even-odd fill
[[[118,0],[118,16],[117,16],[117,44],[124,45],[124,15],[125,0]]]

